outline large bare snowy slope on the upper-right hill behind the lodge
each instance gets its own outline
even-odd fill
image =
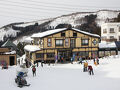
[[[72,26],[80,25],[84,23],[84,17],[86,15],[94,14],[97,15],[96,22],[99,26],[101,26],[102,23],[105,23],[108,19],[112,19],[117,17],[117,15],[120,13],[120,11],[112,11],[112,10],[100,10],[97,12],[78,12],[70,15],[65,15],[56,18],[53,22],[50,23],[50,26],[57,26],[58,24],[64,24],[68,23]]]

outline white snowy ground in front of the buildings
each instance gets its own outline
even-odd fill
[[[89,61],[93,64],[93,61]],[[95,75],[83,72],[82,65],[57,64],[44,65],[37,68],[37,76],[33,77],[31,68],[26,78],[29,87],[19,88],[14,82],[16,66],[8,70],[0,69],[0,88],[2,90],[120,90],[120,56],[100,59],[95,66]],[[0,67],[1,68],[1,67]]]

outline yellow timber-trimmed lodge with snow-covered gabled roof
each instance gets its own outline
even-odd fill
[[[55,29],[32,35],[33,44],[24,47],[27,60],[70,61],[71,57],[91,58],[98,54],[99,35],[78,29]]]

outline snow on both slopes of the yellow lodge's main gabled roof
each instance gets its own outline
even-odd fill
[[[51,35],[51,34],[54,34],[54,33],[58,33],[58,32],[64,31],[64,30],[67,30],[67,28],[48,30],[48,31],[45,31],[45,32],[33,34],[32,37],[33,37],[33,38],[34,38],[34,37],[40,37],[40,38],[42,38],[42,37],[45,37],[45,36],[47,36],[47,35]],[[85,31],[82,31],[82,30],[79,30],[79,29],[72,28],[72,30],[78,31],[78,32],[83,33],[83,34],[86,34],[86,35],[95,36],[95,37],[100,37],[100,36],[97,35],[97,34],[92,34],[92,33],[85,32]]]

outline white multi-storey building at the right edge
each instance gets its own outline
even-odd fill
[[[101,40],[120,41],[120,23],[104,23],[101,25]]]

